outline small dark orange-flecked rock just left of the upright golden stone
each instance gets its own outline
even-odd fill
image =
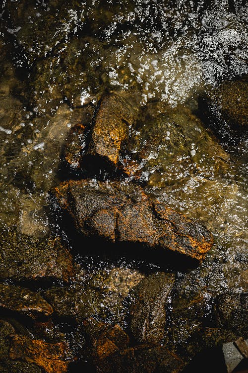
[[[80,168],[80,161],[84,154],[85,146],[85,126],[76,124],[68,133],[63,151],[64,161],[72,170]]]

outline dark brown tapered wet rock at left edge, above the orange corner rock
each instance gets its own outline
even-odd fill
[[[53,308],[39,294],[14,285],[0,284],[0,307],[33,319],[53,313]]]

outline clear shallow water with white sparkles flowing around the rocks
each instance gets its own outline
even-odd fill
[[[101,250],[91,255],[85,247],[88,243],[78,240],[71,228],[65,229],[61,216],[54,217],[49,198],[51,188],[70,177],[61,161],[69,129],[78,122],[91,123],[103,94],[130,91],[139,97],[140,115],[120,157],[123,168],[133,166],[127,182],[137,182],[146,192],[197,219],[215,239],[197,268],[175,269],[178,296],[193,299],[202,294],[204,307],[211,309],[212,297],[247,291],[245,127],[237,129],[230,123],[214,100],[209,115],[203,110],[204,97],[211,101],[222,82],[245,80],[246,17],[242,0],[3,1],[3,267],[8,242],[15,245],[9,238],[12,231],[30,240],[60,236],[77,263],[70,286],[83,286],[100,274],[94,286],[104,288],[105,300],[98,317],[124,327],[129,303],[112,312],[118,303],[117,293],[121,291],[124,299],[129,288],[147,273],[165,268],[171,271],[166,263],[161,265],[151,258],[133,259],[125,253],[116,258]],[[88,171],[80,170],[73,177],[85,178]],[[94,170],[90,174],[94,175]],[[96,172],[94,177],[102,178],[100,174]],[[111,178],[107,171],[104,179]],[[28,240],[24,251],[33,245]],[[106,295],[109,290],[104,280],[108,282],[109,274],[116,272],[127,287],[117,280],[111,298]],[[25,281],[30,280],[28,276]],[[1,280],[5,279],[1,275]],[[19,282],[20,276],[8,280]],[[172,302],[171,309],[173,306]],[[187,334],[184,323],[180,327]],[[185,343],[183,335],[176,345]]]

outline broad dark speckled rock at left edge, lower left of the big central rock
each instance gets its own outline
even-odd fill
[[[65,280],[73,273],[73,262],[60,238],[35,239],[13,229],[0,234],[0,279]]]

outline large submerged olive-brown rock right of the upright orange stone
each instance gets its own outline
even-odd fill
[[[167,187],[190,177],[223,175],[229,156],[189,108],[150,102],[120,158],[124,171],[147,187]]]

